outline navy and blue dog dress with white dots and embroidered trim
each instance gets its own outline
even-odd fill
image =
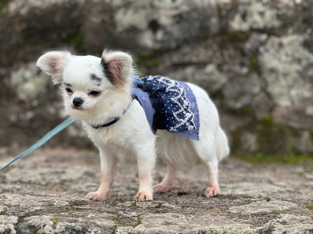
[[[145,76],[136,81],[133,92],[146,112],[152,131],[166,129],[172,134],[199,140],[199,111],[190,87],[162,76]]]

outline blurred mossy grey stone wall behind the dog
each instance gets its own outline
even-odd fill
[[[2,0],[0,149],[67,118],[39,56],[109,48],[130,53],[140,75],[207,90],[233,155],[312,155],[312,30],[313,0]],[[91,146],[75,124],[47,144]]]

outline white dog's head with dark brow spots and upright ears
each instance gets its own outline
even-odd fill
[[[131,56],[104,50],[101,58],[74,56],[69,52],[51,51],[41,56],[36,66],[61,83],[64,106],[70,115],[103,109],[116,94],[129,92],[133,69]]]

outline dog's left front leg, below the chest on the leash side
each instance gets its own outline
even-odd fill
[[[87,194],[87,198],[96,201],[106,200],[113,182],[117,161],[115,155],[105,149],[100,149],[100,159],[102,176],[101,184],[98,188],[98,191]]]

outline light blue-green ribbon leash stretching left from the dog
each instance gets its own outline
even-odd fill
[[[69,124],[73,123],[74,121],[75,121],[75,119],[73,119],[72,117],[69,117],[62,124],[60,124],[59,126],[54,128],[53,130],[51,130],[47,135],[45,135],[42,139],[40,139],[36,144],[34,144],[28,150],[26,150],[22,154],[18,155],[17,157],[13,158],[9,163],[7,163],[5,166],[0,168],[0,170],[2,170],[3,168],[6,168],[8,165],[15,162],[19,158],[23,158],[26,155],[32,153],[34,150],[38,149],[40,146],[42,146],[44,143],[46,143],[49,139],[51,139],[55,134],[58,134],[60,131],[62,131],[67,126],[69,126]]]

